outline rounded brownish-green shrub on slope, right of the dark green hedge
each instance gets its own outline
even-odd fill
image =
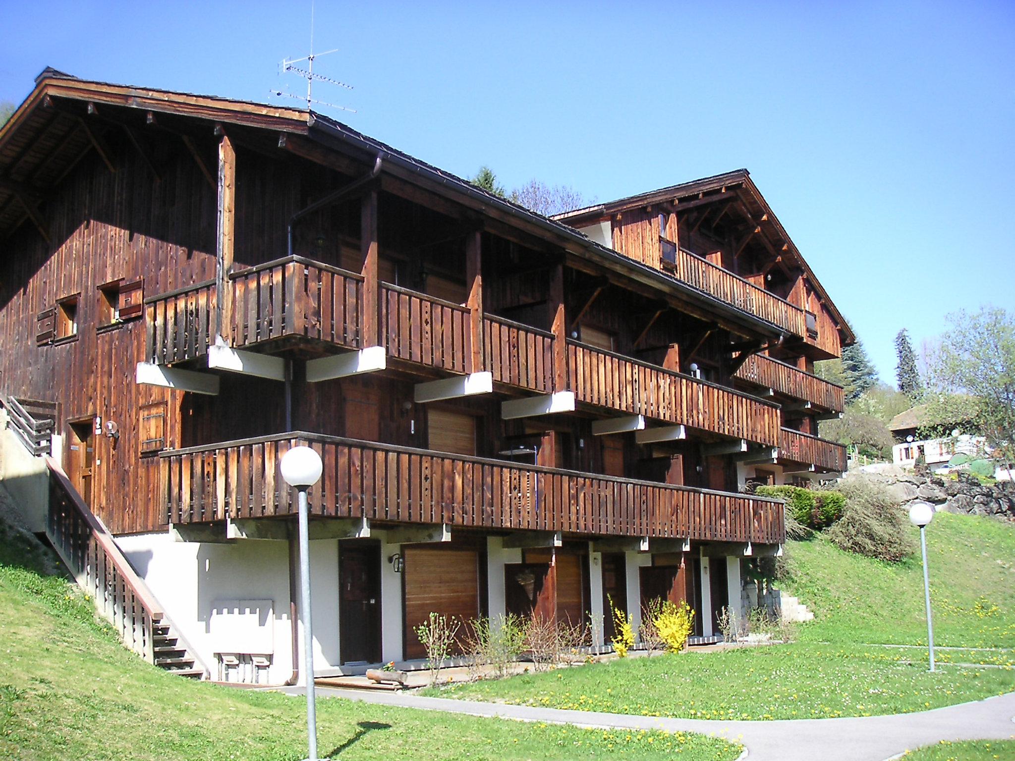
[[[849,478],[839,485],[845,497],[842,517],[827,531],[836,547],[867,557],[897,562],[913,553],[905,512],[882,484]]]

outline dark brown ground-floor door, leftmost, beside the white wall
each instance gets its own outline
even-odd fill
[[[339,647],[343,664],[381,661],[381,547],[342,542],[338,551]]]

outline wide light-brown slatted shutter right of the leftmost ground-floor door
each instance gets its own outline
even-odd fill
[[[404,547],[405,656],[426,658],[416,627],[430,613],[460,624],[459,633],[479,618],[479,553],[469,549]],[[453,645],[458,652],[458,646]]]

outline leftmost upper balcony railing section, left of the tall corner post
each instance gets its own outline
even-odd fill
[[[144,300],[145,359],[170,364],[208,353],[215,341],[214,280]]]

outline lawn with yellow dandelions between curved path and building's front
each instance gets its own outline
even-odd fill
[[[1011,668],[883,647],[796,643],[629,658],[444,688],[448,697],[683,718],[826,718],[927,710],[1015,689]]]

